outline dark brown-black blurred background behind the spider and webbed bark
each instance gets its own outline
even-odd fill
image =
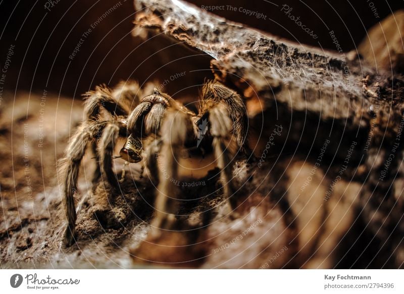
[[[142,43],[131,36],[134,9],[131,0],[121,0],[121,6],[104,18],[84,40],[73,61],[69,59],[81,35],[100,16],[119,1],[60,0],[49,10],[46,1],[34,4],[8,0],[0,3],[1,51],[0,66],[6,60],[8,48],[15,45],[15,54],[6,76],[6,89],[42,92],[43,89],[78,97],[100,83],[113,86],[121,79],[164,80],[182,69],[209,69],[209,59],[191,56],[178,45],[162,37]],[[392,11],[404,7],[404,1],[373,0],[380,18],[369,7],[370,2],[358,1],[190,1],[201,5],[231,5],[262,12],[267,20],[257,19],[230,10],[213,11],[230,20],[244,23],[296,42],[335,50],[329,36],[333,30],[344,52],[355,49],[366,36],[366,30]],[[274,4],[279,5],[276,7]],[[287,4],[292,15],[318,35],[313,39],[280,11]],[[171,45],[171,46],[170,46]],[[169,48],[165,48],[170,46]],[[162,50],[164,48],[164,50]],[[162,50],[160,53],[158,51]],[[155,54],[157,53],[157,54]],[[177,60],[178,58],[184,59]],[[175,61],[177,60],[177,61]],[[171,63],[170,63],[171,62]],[[200,76],[188,74],[186,82],[200,83]],[[186,85],[171,83],[175,91]]]

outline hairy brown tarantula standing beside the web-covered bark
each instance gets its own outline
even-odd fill
[[[100,86],[86,94],[86,120],[72,137],[64,159],[66,246],[71,246],[76,239],[74,194],[80,163],[90,143],[99,162],[93,182],[105,174],[109,183],[117,187],[124,179],[125,168],[121,179],[113,171],[113,159],[117,158],[113,156],[114,144],[118,137],[126,138],[118,156],[126,160],[125,165],[143,160],[141,175],[146,167],[148,174],[158,179],[154,227],[170,228],[177,213],[178,193],[175,185],[162,176],[157,167],[158,154],[163,155],[160,164],[164,165],[165,172],[171,178],[177,178],[176,158],[183,150],[210,147],[220,169],[224,197],[234,210],[231,160],[235,148],[231,148],[232,142],[250,154],[246,140],[247,114],[240,95],[218,81],[207,81],[201,91],[198,114],[195,114],[158,88],[140,100],[147,88],[150,89],[150,84],[141,91],[135,82],[121,83],[113,91]],[[135,107],[132,111],[131,106]]]

